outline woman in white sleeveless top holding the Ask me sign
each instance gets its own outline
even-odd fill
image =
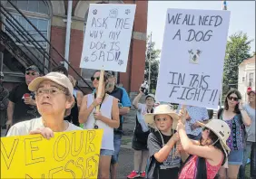
[[[84,96],[79,111],[79,122],[84,129],[103,129],[103,139],[99,163],[99,178],[109,178],[110,163],[113,155],[113,128],[119,127],[118,100],[105,93],[106,76],[103,80],[103,96],[96,98],[99,87],[100,71],[95,71],[91,78],[95,92]],[[100,106],[100,112],[95,110]]]

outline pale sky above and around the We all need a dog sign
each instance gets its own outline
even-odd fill
[[[229,36],[241,31],[255,40],[255,2],[227,1],[227,7],[231,11]],[[167,8],[221,10],[222,1],[149,1],[147,33],[152,32],[152,41],[160,50]],[[256,52],[255,41],[251,42],[251,52]]]

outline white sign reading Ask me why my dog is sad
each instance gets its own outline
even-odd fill
[[[91,4],[80,68],[126,71],[136,5]]]

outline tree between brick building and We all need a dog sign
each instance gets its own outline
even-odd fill
[[[158,71],[159,71],[159,54],[160,50],[155,49],[155,42],[150,44],[150,37],[147,38],[147,52],[146,52],[146,59],[145,59],[145,80],[148,80],[149,76],[149,61],[151,61],[151,85],[150,89],[152,93],[154,93],[156,89]],[[150,54],[151,53],[151,54]],[[151,59],[151,60],[150,60]]]

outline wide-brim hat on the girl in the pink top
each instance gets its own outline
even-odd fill
[[[227,140],[231,135],[231,128],[222,119],[211,119],[206,124],[198,122],[201,127],[209,128],[219,139],[223,149],[231,151],[230,147],[227,146]],[[214,142],[214,141],[213,141]]]

